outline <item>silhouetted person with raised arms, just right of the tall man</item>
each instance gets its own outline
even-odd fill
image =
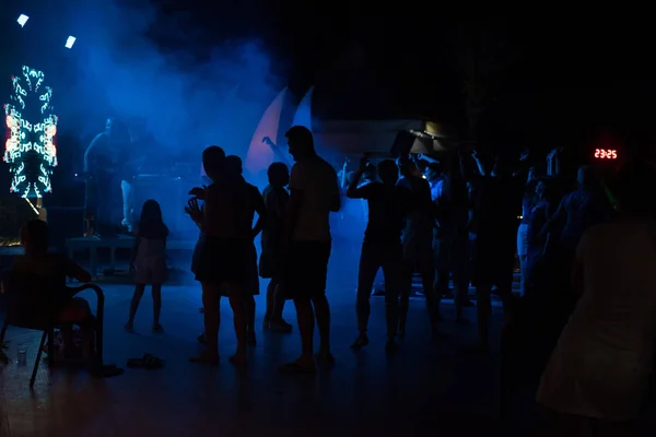
[[[370,297],[378,269],[385,275],[385,317],[387,319],[386,351],[397,350],[395,336],[399,324],[399,293],[403,248],[401,231],[409,206],[410,191],[397,187],[398,168],[394,161],[378,164],[382,182],[373,181],[358,188],[360,178],[367,166],[366,156],[360,161],[360,168],[347,189],[347,197],[365,199],[368,205],[368,222],[364,232],[360,268],[358,271],[358,297],[355,312],[360,334],[351,345],[353,349],[368,344],[367,324],[371,315]]]

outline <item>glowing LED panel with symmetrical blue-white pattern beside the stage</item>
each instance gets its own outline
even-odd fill
[[[10,191],[25,199],[52,192],[50,176],[57,166],[58,119],[50,105],[52,90],[44,85],[44,78],[42,71],[23,66],[23,75],[11,78],[13,94],[4,105],[3,161],[13,175]]]

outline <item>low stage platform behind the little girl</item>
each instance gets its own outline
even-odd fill
[[[167,240],[166,250],[194,250],[197,240]],[[109,269],[116,269],[117,249],[131,249],[134,237],[119,235],[116,237],[79,237],[66,240],[66,250],[71,259],[75,252],[86,251],[89,255],[89,270],[93,276],[98,272],[98,250],[109,251]]]

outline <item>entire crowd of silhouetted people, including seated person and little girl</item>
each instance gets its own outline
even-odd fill
[[[265,330],[291,332],[282,317],[285,302],[296,310],[301,354],[281,371],[313,374],[317,362],[332,363],[326,296],[330,214],[345,196],[367,205],[352,349],[368,345],[370,297],[378,270],[385,279],[385,350],[390,354],[406,334],[415,275],[434,339],[450,281],[457,322],[465,322],[465,308],[475,305],[471,283],[481,350],[490,343],[492,295],[503,304],[504,395],[517,385],[532,386],[554,435],[596,435],[606,423],[621,435],[639,416],[656,345],[656,276],[649,270],[656,263],[656,209],[644,197],[656,186],[654,166],[629,163],[611,179],[582,166],[570,192],[563,175],[553,174],[558,153],[543,166],[526,153],[494,158],[464,151],[440,157],[407,154],[377,165],[364,156],[356,172],[347,174],[344,166],[338,178],[317,154],[308,129],[295,126],[286,139],[295,163],[291,172],[283,163],[271,164],[261,194],[243,177],[239,157],[215,145],[202,154],[209,184],[190,191],[186,208],[199,227],[191,271],[202,287],[204,321],[199,336],[204,351],[191,362],[219,364],[220,302],[226,296],[237,340],[230,362],[246,366],[247,347],[257,342],[254,296],[261,276],[269,279]],[[143,204],[134,232],[136,290],[126,329],[132,330],[150,285],[153,331],[161,332],[168,229],[157,202]],[[260,233],[258,262],[254,241]],[[25,256],[3,276],[3,290],[25,276],[56,279],[58,292],[35,310],[84,327],[89,305],[67,294],[65,279],[87,282],[89,273],[48,252],[44,222],[31,221],[21,237]],[[517,260],[520,286],[513,293]]]

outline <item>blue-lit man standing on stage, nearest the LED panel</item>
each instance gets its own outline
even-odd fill
[[[121,222],[121,169],[129,135],[116,119],[109,118],[84,153],[87,214],[95,216],[101,234],[116,233]]]

